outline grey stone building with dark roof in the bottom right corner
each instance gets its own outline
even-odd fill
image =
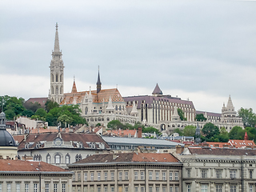
[[[189,147],[180,155],[183,192],[254,192],[256,150]]]

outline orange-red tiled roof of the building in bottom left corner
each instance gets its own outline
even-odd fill
[[[0,159],[0,171],[68,172],[68,170],[50,165],[46,162],[29,162],[10,159]]]

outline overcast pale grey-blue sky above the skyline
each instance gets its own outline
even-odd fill
[[[256,110],[254,1],[0,1],[0,95],[47,97],[55,23],[64,93],[118,87],[163,94],[221,113]]]

